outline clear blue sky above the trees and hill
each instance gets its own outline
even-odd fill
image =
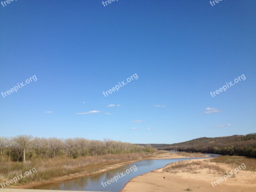
[[[0,92],[37,78],[0,95],[0,136],[175,143],[255,132],[255,1],[101,2],[0,4]]]

